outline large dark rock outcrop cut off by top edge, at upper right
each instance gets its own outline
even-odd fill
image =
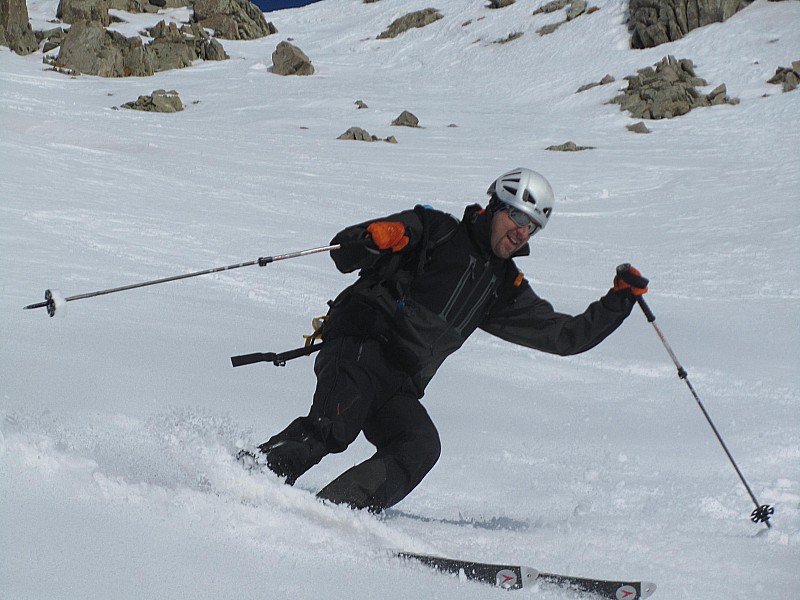
[[[673,42],[709,25],[721,23],[749,0],[629,0],[631,47],[652,48]]]

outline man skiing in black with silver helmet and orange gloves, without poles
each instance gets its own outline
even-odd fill
[[[308,415],[258,446],[261,464],[293,485],[363,431],[375,454],[317,495],[380,512],[405,498],[439,459],[439,435],[420,399],[475,329],[544,352],[577,354],[613,332],[635,296],[647,291],[647,280],[630,268],[582,314],[555,312],[513,261],[529,254],[531,236],[547,225],[550,184],[519,168],[487,194],[486,208],[468,206],[460,222],[417,206],[333,238],[331,244],[371,241],[331,252],[341,272],[360,269],[359,278],[330,303]]]

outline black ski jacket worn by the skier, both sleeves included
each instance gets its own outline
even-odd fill
[[[361,239],[375,221],[400,221],[408,245],[400,252],[351,246],[331,252],[358,280],[331,303],[323,337],[366,336],[412,377],[418,394],[450,354],[481,328],[504,340],[562,356],[599,344],[630,314],[629,291],[609,291],[580,315],[558,313],[539,298],[512,259],[490,247],[491,215],[477,204],[459,222],[416,207],[353,225],[331,244]],[[526,245],[517,255],[526,255]]]

